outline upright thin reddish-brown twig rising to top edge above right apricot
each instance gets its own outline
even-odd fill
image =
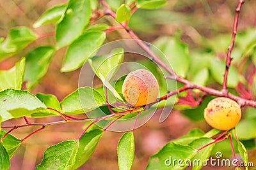
[[[244,0],[239,0],[239,3],[237,4],[236,8],[236,15],[234,19],[234,25],[233,25],[233,32],[232,32],[232,38],[231,38],[231,43],[228,46],[228,52],[227,52],[227,58],[226,58],[226,68],[225,68],[225,73],[224,73],[224,79],[223,79],[223,85],[222,85],[222,91],[225,93],[228,93],[227,91],[227,78],[228,78],[228,69],[230,67],[231,63],[231,52],[234,48],[234,43],[235,43],[235,38],[237,34],[237,24],[238,24],[238,17],[239,17],[239,12],[241,11],[241,6],[244,3]]]

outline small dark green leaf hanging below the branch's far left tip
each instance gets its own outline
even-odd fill
[[[5,131],[1,131],[0,138],[2,138],[6,134]],[[6,149],[6,152],[8,153],[9,157],[12,158],[13,154],[19,148],[20,146],[20,139],[15,138],[15,136],[12,136],[12,134],[8,134],[3,139],[3,146]]]

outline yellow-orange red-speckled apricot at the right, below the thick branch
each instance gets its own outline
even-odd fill
[[[205,121],[216,129],[232,129],[241,119],[241,108],[232,99],[217,97],[204,110]]]

